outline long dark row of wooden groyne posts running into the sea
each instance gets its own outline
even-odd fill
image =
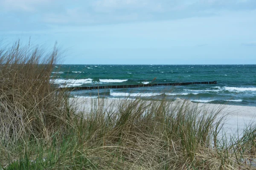
[[[70,88],[61,88],[63,90],[95,90],[95,89],[108,89],[108,88],[140,88],[140,87],[152,87],[152,86],[176,86],[176,85],[194,85],[194,84],[203,84],[203,85],[214,85],[217,84],[217,81],[213,82],[180,82],[180,83],[158,83],[158,84],[146,84],[146,85],[105,85],[105,86],[85,86],[85,87],[70,87]]]

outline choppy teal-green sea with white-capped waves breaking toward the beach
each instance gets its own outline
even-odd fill
[[[256,65],[55,65],[58,87],[209,82],[184,86],[76,90],[72,97],[192,102],[256,106]]]

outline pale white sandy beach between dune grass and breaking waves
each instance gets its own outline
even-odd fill
[[[74,98],[73,98],[74,99]],[[102,99],[100,99],[102,100]],[[122,100],[122,99],[121,99]],[[98,99],[89,99],[89,98],[76,98],[75,101],[79,105],[80,111],[90,111],[92,103],[97,103]],[[176,100],[176,102],[170,102],[170,104],[177,104],[181,99]],[[104,105],[107,108],[109,105],[117,105],[120,102],[120,99],[105,99]],[[246,125],[250,125],[256,120],[256,107],[252,106],[238,106],[238,105],[218,105],[218,104],[205,104],[205,103],[189,103],[193,105],[198,105],[202,111],[215,111],[218,108],[223,108],[220,115],[227,115],[221,133],[227,134],[242,134],[243,129]],[[90,112],[87,112],[90,113]],[[256,122],[255,122],[256,123]],[[253,123],[253,124],[255,124]],[[221,134],[220,134],[221,135]]]

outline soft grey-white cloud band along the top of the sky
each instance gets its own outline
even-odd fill
[[[177,20],[254,9],[256,0],[0,0],[0,30]]]

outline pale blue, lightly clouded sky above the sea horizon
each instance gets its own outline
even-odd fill
[[[256,0],[0,0],[0,40],[62,64],[256,64]]]

